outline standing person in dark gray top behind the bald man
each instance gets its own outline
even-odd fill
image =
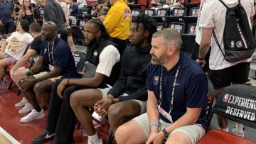
[[[58,35],[68,43],[68,30],[65,27],[66,18],[60,4],[53,0],[47,0],[44,6],[44,20],[53,21],[58,27]]]

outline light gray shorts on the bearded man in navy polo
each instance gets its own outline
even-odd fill
[[[137,116],[133,118],[133,120],[139,124],[139,126],[142,128],[144,135],[146,136],[146,138],[148,138],[150,134],[150,125],[149,125],[149,117],[147,113]],[[165,121],[162,121],[160,119],[159,131],[163,130],[169,125],[171,125],[171,123],[166,123]],[[175,132],[182,132],[188,135],[188,137],[191,139],[192,144],[196,144],[198,140],[200,140],[203,137],[203,135],[206,133],[203,126],[201,126],[201,124],[198,124],[198,123],[176,128],[174,129],[174,131],[170,133],[170,135]]]

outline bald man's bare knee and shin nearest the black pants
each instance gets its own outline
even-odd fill
[[[43,80],[36,83],[34,90],[36,96],[38,96],[43,104],[48,108],[50,104],[50,93],[53,87],[53,81],[50,79]]]

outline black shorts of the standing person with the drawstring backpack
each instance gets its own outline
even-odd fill
[[[242,62],[223,70],[210,70],[210,81],[214,89],[227,87],[230,84],[245,84],[248,81],[250,62]]]

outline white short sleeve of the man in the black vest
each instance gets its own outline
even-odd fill
[[[100,53],[99,59],[100,62],[97,65],[96,72],[110,77],[112,68],[120,60],[120,54],[114,45],[107,45],[107,47],[105,47]]]

